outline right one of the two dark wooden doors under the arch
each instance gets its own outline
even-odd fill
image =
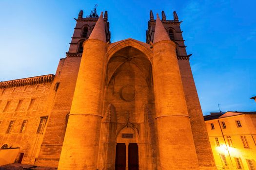
[[[128,147],[128,169],[138,170],[138,144],[130,143]]]

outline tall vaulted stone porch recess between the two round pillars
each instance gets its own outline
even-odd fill
[[[150,45],[129,38],[109,45],[106,57],[98,169],[114,170],[117,143],[125,143],[126,149],[130,143],[137,143],[139,170],[156,170],[158,147]]]

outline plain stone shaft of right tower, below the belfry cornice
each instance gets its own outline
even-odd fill
[[[197,151],[197,159],[202,169],[215,167],[211,145],[208,139],[197,89],[190,68],[189,60],[178,60],[183,90],[186,98],[191,129]]]

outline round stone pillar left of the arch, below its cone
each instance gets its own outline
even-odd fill
[[[107,44],[88,39],[83,49],[58,170],[97,168]]]

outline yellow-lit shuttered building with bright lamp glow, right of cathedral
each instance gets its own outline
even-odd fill
[[[256,170],[256,112],[204,116],[219,170]]]

